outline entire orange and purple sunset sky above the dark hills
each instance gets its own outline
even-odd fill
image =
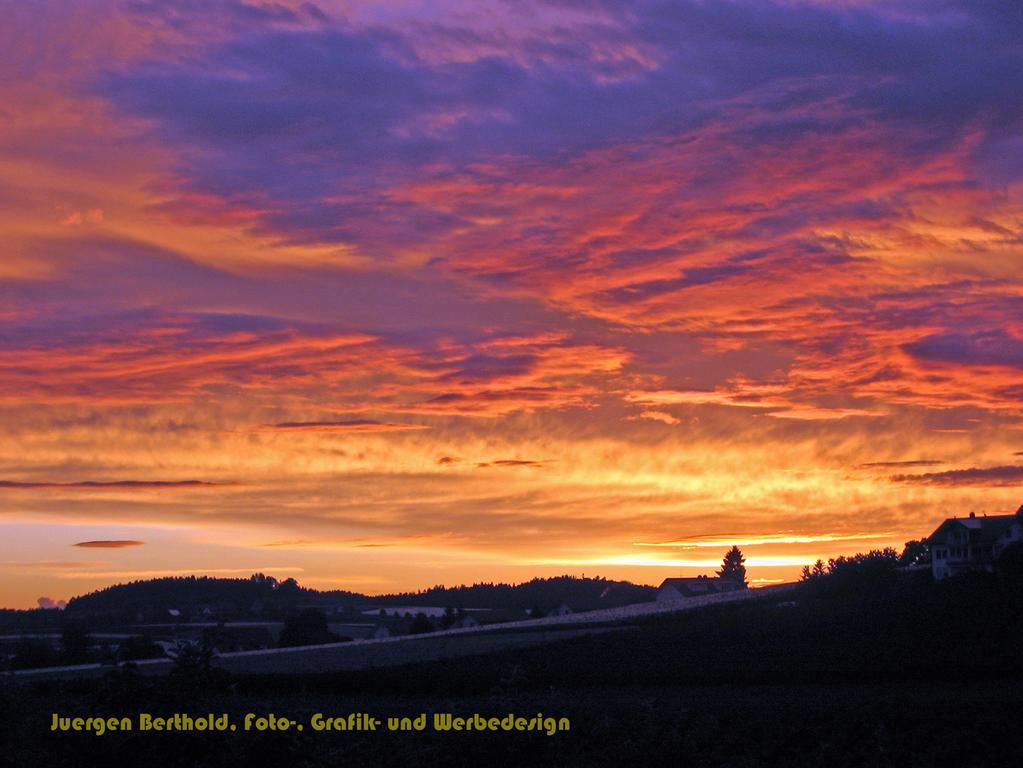
[[[0,605],[1023,502],[1020,3],[0,5]]]

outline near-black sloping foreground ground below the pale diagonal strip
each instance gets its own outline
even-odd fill
[[[785,599],[635,622],[542,647],[379,670],[229,676],[201,656],[167,678],[0,692],[7,765],[1010,766],[1023,756],[1023,589],[890,570]],[[71,716],[230,713],[226,733],[52,733]],[[568,732],[314,732],[367,712],[567,717]],[[247,732],[247,713],[304,723]],[[137,721],[137,720],[136,720]]]

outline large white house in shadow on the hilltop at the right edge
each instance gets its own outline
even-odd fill
[[[951,517],[924,539],[935,581],[966,571],[994,571],[1003,550],[1023,541],[1023,506],[1016,514]]]

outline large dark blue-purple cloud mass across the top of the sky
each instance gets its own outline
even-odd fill
[[[464,210],[394,195],[395,184],[480,173],[509,155],[548,161],[679,135],[737,100],[759,107],[733,129],[747,147],[864,122],[898,132],[902,152],[930,156],[978,124],[993,139],[1023,118],[1013,85],[1023,79],[1011,34],[1019,20],[988,3],[945,3],[936,22],[911,2],[650,1],[627,13],[604,6],[601,24],[594,14],[519,47],[497,30],[440,20],[413,36],[227,7],[247,16],[233,38],[113,70],[98,91],[153,121],[180,150],[190,189],[259,212],[264,228],[292,241],[360,243],[377,259],[471,223]],[[491,52],[428,59],[417,46],[432,38]],[[603,48],[648,50],[650,60],[609,71],[594,53]],[[775,231],[809,215],[758,226]]]

